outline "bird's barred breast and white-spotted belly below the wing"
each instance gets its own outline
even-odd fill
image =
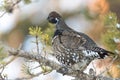
[[[84,61],[86,61],[87,63],[91,62],[89,56],[86,56],[83,53],[82,49],[78,49],[80,41],[75,42],[74,39],[66,41],[65,37],[63,38],[61,38],[61,41],[58,37],[54,38],[52,44],[54,54],[61,64],[65,66],[75,65],[75,67],[79,65],[79,68],[81,68],[84,66],[82,65],[83,63],[85,63]]]

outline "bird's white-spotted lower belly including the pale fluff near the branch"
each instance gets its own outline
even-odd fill
[[[56,58],[62,65],[80,71],[86,69],[89,63],[93,60],[89,57],[83,56],[82,53],[73,53],[72,51],[56,54]]]

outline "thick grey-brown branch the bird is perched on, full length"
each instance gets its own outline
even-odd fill
[[[40,54],[32,54],[30,52],[25,52],[23,50],[15,50],[15,49],[9,50],[8,52],[10,55],[13,55],[13,56],[23,57],[29,60],[37,61],[39,63],[44,63],[44,66],[49,66],[52,68],[52,70],[57,70],[62,74],[64,74],[64,72],[67,71],[66,75],[75,77],[75,80],[115,80],[112,78],[103,77],[101,75],[95,76],[94,71],[91,71],[91,70],[88,75],[83,72],[72,70],[71,68],[65,68],[55,61],[42,57]],[[116,80],[119,80],[119,79],[116,79]]]

